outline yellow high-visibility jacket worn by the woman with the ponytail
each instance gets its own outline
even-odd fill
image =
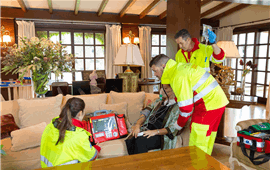
[[[89,132],[79,127],[76,127],[75,131],[67,130],[64,142],[55,145],[59,137],[59,130],[54,127],[52,122],[46,126],[41,138],[40,162],[42,168],[96,159],[98,151],[89,142]]]

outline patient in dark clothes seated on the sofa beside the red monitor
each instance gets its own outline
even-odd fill
[[[166,86],[163,89],[160,90],[163,94],[162,100],[156,99],[143,109],[140,118],[132,127],[132,136],[126,140],[129,155],[152,149],[175,148],[178,130],[174,124],[179,116],[179,108],[171,87]],[[140,132],[143,135],[140,135]]]

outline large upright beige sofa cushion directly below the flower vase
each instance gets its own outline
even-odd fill
[[[33,126],[42,122],[49,124],[54,117],[59,116],[62,99],[62,94],[45,99],[18,99],[21,128]]]

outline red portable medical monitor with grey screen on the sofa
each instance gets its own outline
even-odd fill
[[[90,141],[94,143],[118,139],[128,134],[125,115],[117,114],[112,110],[95,111],[93,117],[84,124],[85,129],[92,134]]]

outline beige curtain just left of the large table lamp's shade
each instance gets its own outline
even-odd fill
[[[111,79],[115,74],[122,73],[122,66],[113,66],[118,49],[121,46],[121,26],[106,25],[106,78]]]

